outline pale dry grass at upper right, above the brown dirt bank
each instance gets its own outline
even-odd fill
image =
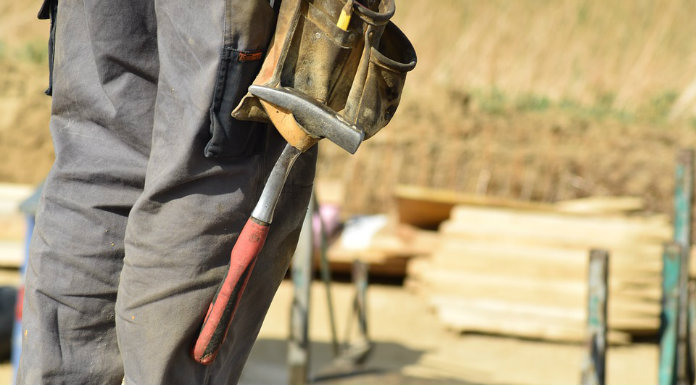
[[[481,112],[562,110],[597,118],[696,117],[696,2],[399,0],[418,52],[404,99],[471,94]],[[414,87],[413,84],[418,84]],[[413,93],[414,95],[411,95]],[[427,109],[427,108],[426,108]]]

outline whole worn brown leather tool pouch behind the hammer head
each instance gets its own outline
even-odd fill
[[[355,1],[346,30],[337,26],[346,0],[283,0],[271,47],[254,85],[292,88],[338,112],[368,138],[391,120],[416,53],[389,21],[393,0]],[[246,94],[232,112],[268,122]]]

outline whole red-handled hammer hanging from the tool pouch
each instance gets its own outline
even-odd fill
[[[273,213],[285,180],[297,157],[327,138],[351,154],[362,143],[364,133],[336,112],[292,88],[252,85],[271,121],[288,142],[278,157],[251,217],[239,233],[230,253],[230,264],[208,307],[193,348],[193,358],[203,365],[215,359],[227,335],[256,259],[266,241]]]

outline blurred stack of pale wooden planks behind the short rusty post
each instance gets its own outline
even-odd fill
[[[409,265],[409,285],[459,331],[581,341],[589,250],[603,248],[610,341],[655,334],[667,218],[621,214],[606,201],[606,213],[592,215],[582,204],[557,207],[456,206],[432,254]]]

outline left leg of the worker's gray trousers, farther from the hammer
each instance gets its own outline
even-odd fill
[[[60,1],[51,117],[56,160],[27,266],[19,384],[122,380],[114,303],[157,91],[148,4]]]

